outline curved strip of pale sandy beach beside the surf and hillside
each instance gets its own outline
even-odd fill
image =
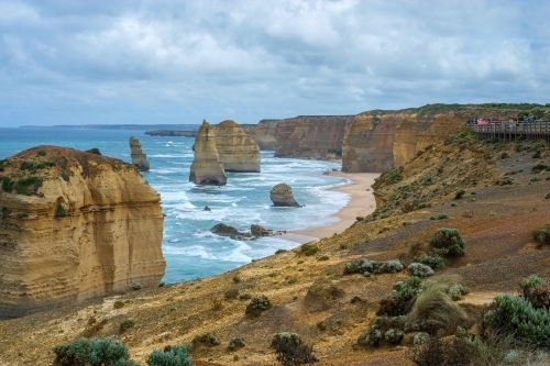
[[[339,234],[355,222],[356,217],[365,217],[376,209],[376,202],[371,186],[380,173],[342,173],[330,171],[331,176],[343,177],[350,180],[345,186],[332,188],[350,195],[350,201],[334,217],[340,219],[329,226],[311,226],[284,234],[282,237],[297,243],[307,243],[318,239]]]

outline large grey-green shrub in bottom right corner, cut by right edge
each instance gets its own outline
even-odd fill
[[[550,312],[536,309],[529,300],[512,295],[497,296],[495,309],[485,314],[485,323],[493,331],[510,334],[517,340],[534,346],[550,346]]]

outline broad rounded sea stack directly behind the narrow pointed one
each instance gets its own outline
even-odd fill
[[[216,126],[216,147],[226,171],[260,173],[260,148],[234,121]]]

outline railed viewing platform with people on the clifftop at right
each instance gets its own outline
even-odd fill
[[[550,120],[535,121],[483,121],[483,123],[466,123],[464,129],[475,132],[482,138],[498,138],[515,141],[544,140],[550,142]]]

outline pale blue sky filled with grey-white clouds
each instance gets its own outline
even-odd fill
[[[550,102],[550,1],[0,0],[0,127]]]

